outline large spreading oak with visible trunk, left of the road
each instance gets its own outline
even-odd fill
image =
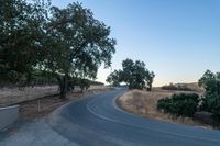
[[[48,69],[62,75],[59,85],[64,90],[63,98],[68,76],[79,74],[82,78],[96,78],[102,63],[106,67],[111,65],[116,40],[109,37],[110,27],[96,20],[92,12],[80,3],[72,3],[66,9],[53,7],[47,30],[58,44],[51,48],[52,53],[53,49],[57,52],[50,54],[45,63],[48,63]]]

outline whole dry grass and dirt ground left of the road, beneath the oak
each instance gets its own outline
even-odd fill
[[[66,100],[59,99],[57,86],[28,87],[22,90],[19,88],[0,89],[0,106],[19,104],[20,117],[33,120],[50,114],[61,105],[91,94],[111,90],[105,86],[91,86],[84,93],[75,90],[68,93]]]

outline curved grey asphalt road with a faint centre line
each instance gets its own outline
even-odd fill
[[[82,146],[220,146],[220,132],[164,123],[123,112],[114,104],[125,90],[69,103],[51,116],[51,127]]]

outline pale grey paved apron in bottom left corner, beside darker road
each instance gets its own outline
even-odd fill
[[[51,128],[46,119],[20,121],[0,132],[0,146],[79,146]]]

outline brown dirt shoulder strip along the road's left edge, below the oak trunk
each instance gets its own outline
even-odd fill
[[[112,90],[112,89],[111,88],[101,88],[101,89],[92,88],[88,91],[85,91],[84,93],[72,92],[67,96],[66,100],[59,99],[59,96],[48,96],[48,97],[32,100],[32,101],[24,101],[20,103],[20,117],[25,119],[25,120],[43,117],[67,102],[75,101],[80,98],[86,98],[88,96],[98,94],[108,90]]]

